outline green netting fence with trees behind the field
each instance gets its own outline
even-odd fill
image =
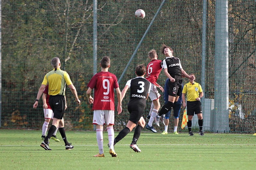
[[[162,1],[101,0],[97,5],[97,63],[107,55],[109,71],[117,76],[138,46]],[[255,19],[256,2],[228,1],[229,29],[229,126],[230,131],[255,132]],[[137,9],[146,16],[138,20]],[[214,99],[215,69],[215,1],[207,1],[206,10],[206,76],[202,80],[202,1],[166,1],[142,41],[119,85],[135,77],[138,64],[147,65],[148,51],[165,43],[180,58],[182,67],[194,73],[196,82],[205,82],[205,99]],[[88,104],[87,83],[93,76],[93,1],[6,1],[2,0],[2,112],[4,128],[40,129],[44,122],[42,100],[32,108],[44,75],[52,69],[50,60],[59,57],[75,85],[81,105],[66,89],[68,109],[66,128],[93,130],[92,106]],[[100,71],[98,64],[97,71]],[[162,72],[158,84],[164,86]],[[184,83],[188,80],[184,79]],[[160,92],[163,95],[163,93]],[[123,100],[123,112],[115,117],[115,130],[125,126],[129,112],[129,91]],[[163,97],[160,98],[163,105]],[[151,101],[147,101],[144,117]],[[208,106],[207,106],[208,108]],[[209,109],[212,108],[212,105]],[[214,108],[213,108],[214,110]],[[180,121],[183,108],[181,109]],[[219,113],[221,114],[221,113]],[[206,118],[210,121],[211,115]],[[181,122],[179,122],[180,127]],[[169,129],[173,129],[170,118]],[[180,128],[179,128],[180,129]],[[157,128],[162,131],[163,127]]]

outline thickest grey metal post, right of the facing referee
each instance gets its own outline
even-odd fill
[[[214,132],[229,131],[228,0],[215,3]]]

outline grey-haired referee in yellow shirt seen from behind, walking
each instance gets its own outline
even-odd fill
[[[33,105],[34,109],[38,106],[38,101],[43,94],[44,88],[47,84],[49,84],[48,94],[50,95],[49,104],[53,110],[53,122],[48,130],[48,134],[44,141],[41,143],[41,147],[45,150],[51,150],[49,148],[49,139],[53,135],[56,128],[59,126],[59,133],[62,136],[63,141],[65,142],[66,149],[71,150],[74,146],[71,145],[67,141],[66,133],[64,130],[64,110],[65,110],[65,89],[66,84],[72,91],[72,94],[75,96],[75,101],[80,104],[80,100],[78,99],[77,91],[75,86],[72,84],[72,81],[69,78],[69,74],[66,71],[60,70],[60,61],[58,57],[55,57],[51,60],[51,65],[53,66],[53,70],[47,73],[44,76],[44,80],[42,82],[41,87],[38,90],[38,94],[35,100],[35,104]],[[47,106],[44,106],[45,109]]]

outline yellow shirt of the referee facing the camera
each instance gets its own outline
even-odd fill
[[[182,90],[182,93],[187,94],[187,101],[190,102],[197,101],[196,98],[199,97],[199,93],[201,92],[203,92],[202,87],[197,82],[194,82],[194,84],[188,82],[184,85]]]

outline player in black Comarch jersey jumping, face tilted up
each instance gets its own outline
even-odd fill
[[[165,44],[161,47],[161,52],[165,55],[161,65],[164,71],[164,74],[169,78],[168,88],[169,88],[169,98],[168,103],[163,105],[162,109],[158,112],[155,117],[155,123],[159,124],[159,118],[161,115],[166,114],[174,103],[177,102],[179,96],[181,95],[182,89],[182,76],[187,77],[188,79],[193,79],[192,76],[189,76],[182,68],[181,61],[179,58],[173,56],[173,50],[171,47],[166,46]]]

